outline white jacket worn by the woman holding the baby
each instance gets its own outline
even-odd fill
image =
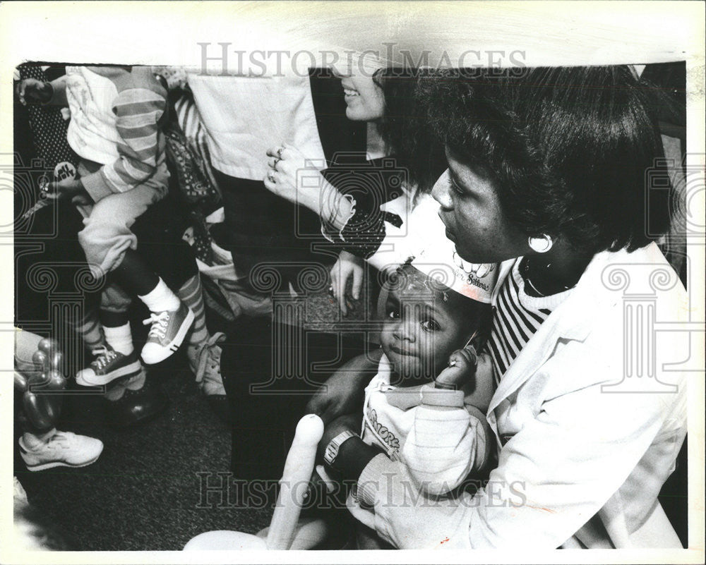
[[[656,245],[596,255],[498,385],[488,487],[415,504],[405,468],[377,456],[358,497],[378,533],[404,549],[681,547],[657,494],[686,435],[688,310]]]

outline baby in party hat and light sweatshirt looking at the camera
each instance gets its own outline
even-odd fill
[[[438,280],[443,269],[418,258],[386,285],[381,356],[363,410],[333,420],[319,446],[318,470],[330,486],[357,480],[382,451],[407,468],[417,492],[435,499],[453,496],[494,461],[485,418],[494,382],[491,372],[477,372],[487,363],[476,348],[489,331],[497,272],[465,267],[474,273],[454,273],[447,286]],[[359,503],[355,489],[346,505],[357,519],[357,547],[380,547],[373,509]]]

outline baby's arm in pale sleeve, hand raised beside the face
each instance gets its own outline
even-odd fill
[[[421,389],[421,404],[414,408],[412,430],[402,445],[402,461],[414,480],[427,494],[445,494],[458,487],[463,480],[491,461],[493,435],[486,422],[493,388],[491,375],[486,375],[487,359],[476,364],[475,353],[466,355],[456,351],[450,366],[436,380],[436,387]],[[453,363],[453,364],[452,364]],[[469,376],[474,378],[464,390],[438,388],[443,383],[460,384]],[[484,382],[480,382],[483,380]],[[485,382],[487,381],[487,382]]]

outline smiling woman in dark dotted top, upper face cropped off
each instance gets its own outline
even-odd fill
[[[297,188],[306,156],[297,147],[273,147],[265,186],[273,193],[320,214],[322,231],[342,251],[331,270],[331,291],[346,312],[345,287],[353,278],[358,298],[363,260],[377,269],[395,269],[429,244],[415,226],[428,226],[443,245],[443,225],[436,215],[431,187],[445,169],[443,145],[432,138],[416,97],[426,71],[411,68],[337,68],[347,105],[346,116],[366,121],[365,166],[337,162],[308,189]],[[371,143],[371,140],[373,141]],[[347,157],[347,156],[343,156]],[[317,176],[316,171],[311,171]],[[301,185],[301,183],[299,183]]]

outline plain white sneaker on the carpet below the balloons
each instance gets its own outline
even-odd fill
[[[53,467],[85,467],[97,461],[103,442],[95,437],[56,432],[48,442],[29,447],[20,437],[20,456],[30,471]]]

